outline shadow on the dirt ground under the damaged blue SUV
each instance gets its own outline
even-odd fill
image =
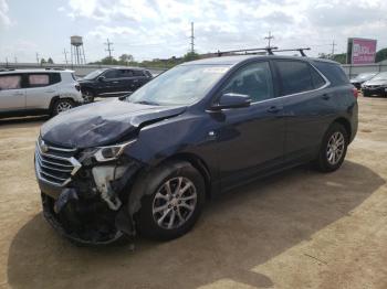
[[[13,288],[196,288],[228,279],[271,287],[254,267],[351,215],[384,183],[349,161],[331,174],[296,168],[208,203],[188,235],[138,238],[134,251],[75,247],[38,214],[12,240],[8,281]]]

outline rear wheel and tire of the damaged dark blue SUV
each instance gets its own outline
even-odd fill
[[[317,170],[321,172],[336,171],[344,162],[348,139],[349,136],[345,127],[334,122],[323,138],[318,158],[315,161]]]

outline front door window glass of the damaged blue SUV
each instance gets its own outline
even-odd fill
[[[228,93],[248,95],[252,103],[273,98],[273,79],[269,63],[254,63],[238,71],[222,89],[222,94]]]

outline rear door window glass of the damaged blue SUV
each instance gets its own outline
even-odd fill
[[[282,81],[281,95],[291,95],[314,89],[311,66],[305,62],[276,61]]]

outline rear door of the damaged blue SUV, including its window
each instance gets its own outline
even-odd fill
[[[307,62],[275,61],[286,126],[286,160],[315,157],[334,114],[327,79]]]

